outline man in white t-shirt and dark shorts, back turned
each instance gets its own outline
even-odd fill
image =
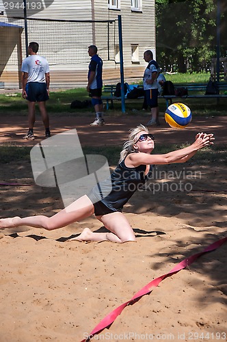
[[[34,124],[36,122],[36,102],[40,109],[42,122],[45,127],[45,136],[50,137],[49,116],[46,112],[46,100],[49,99],[50,70],[46,58],[37,55],[38,43],[30,42],[28,47],[29,57],[23,60],[21,71],[22,96],[28,101],[29,130],[23,139],[34,140]]]

